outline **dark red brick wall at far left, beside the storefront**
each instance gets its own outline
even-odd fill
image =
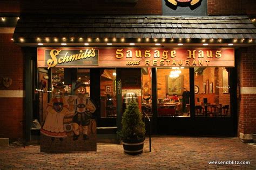
[[[25,70],[21,47],[12,41],[12,34],[0,33],[0,90],[8,90],[7,94],[16,90],[24,90]],[[9,88],[3,86],[2,77],[10,77]],[[20,91],[22,93],[22,91]],[[0,97],[0,137],[22,138],[24,128],[24,97]]]

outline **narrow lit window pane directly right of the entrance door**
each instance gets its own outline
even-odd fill
[[[142,112],[152,116],[151,68],[142,68]]]

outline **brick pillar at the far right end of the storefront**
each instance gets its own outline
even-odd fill
[[[236,57],[241,87],[238,100],[238,133],[246,141],[252,139],[252,133],[256,133],[256,46],[241,48],[239,54]]]

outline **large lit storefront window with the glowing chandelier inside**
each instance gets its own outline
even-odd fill
[[[190,117],[190,74],[184,67],[157,69],[159,117]]]

